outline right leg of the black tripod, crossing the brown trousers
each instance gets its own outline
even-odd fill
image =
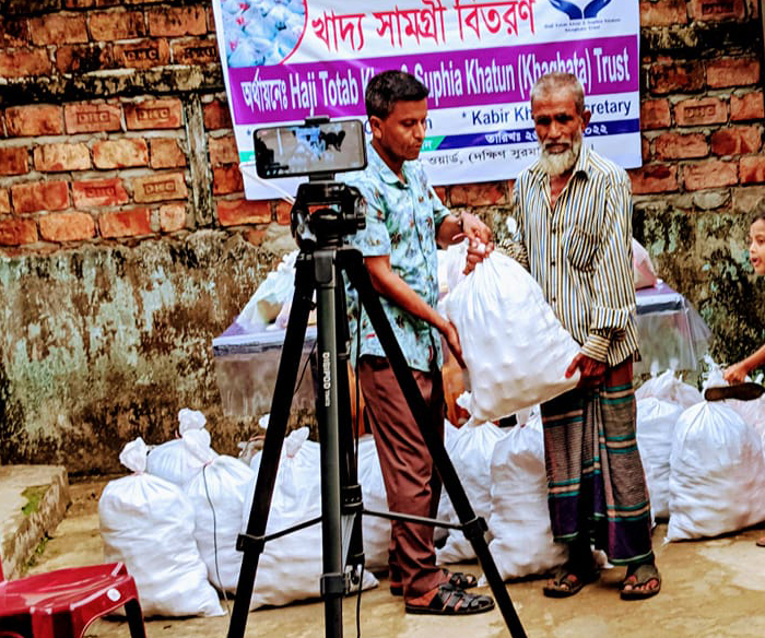
[[[526,638],[523,626],[520,624],[520,618],[518,618],[518,614],[513,606],[513,601],[507,592],[507,588],[489,551],[489,544],[484,537],[485,521],[475,516],[440,437],[435,430],[425,425],[431,423],[427,405],[422,398],[420,388],[396,340],[396,334],[382,310],[382,305],[380,304],[377,292],[372,286],[372,280],[364,267],[362,255],[355,249],[346,248],[343,249],[342,252],[339,252],[339,258],[341,259],[341,268],[348,273],[351,283],[355,286],[356,291],[358,291],[360,302],[366,309],[369,320],[377,333],[377,338],[382,344],[382,348],[390,362],[396,379],[407,399],[409,409],[412,411],[412,415],[420,425],[420,432],[431,452],[433,463],[455,506],[455,511],[460,522],[464,525],[464,535],[472,544],[475,556],[478,556],[481,567],[483,567],[486,580],[492,588],[492,593],[505,618],[507,628],[514,638]]]

